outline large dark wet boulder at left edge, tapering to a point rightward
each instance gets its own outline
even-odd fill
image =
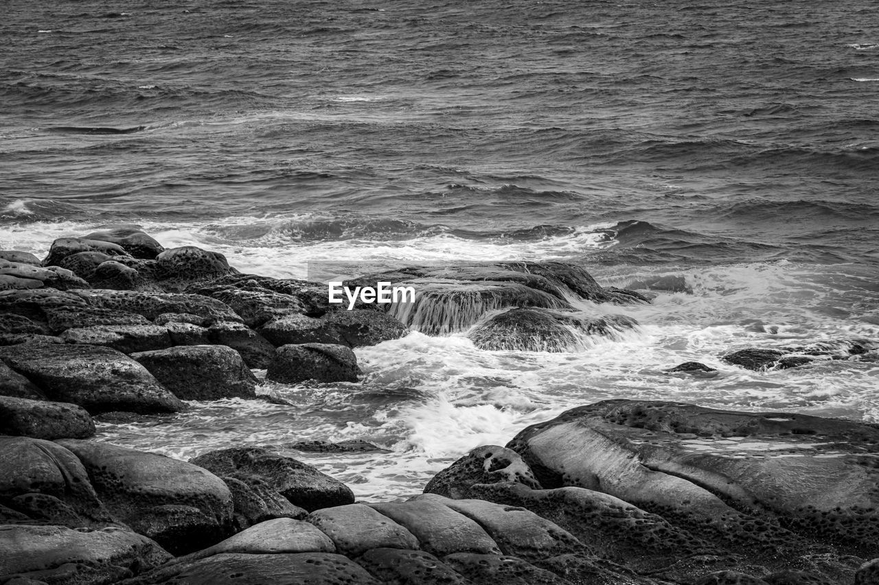
[[[184,405],[133,359],[95,345],[25,343],[0,347],[0,360],[54,401],[91,413],[177,412]]]

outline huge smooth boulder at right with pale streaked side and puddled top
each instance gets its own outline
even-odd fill
[[[879,429],[864,424],[618,400],[507,446],[544,487],[600,490],[743,554],[803,554],[816,541],[869,553],[879,531]]]

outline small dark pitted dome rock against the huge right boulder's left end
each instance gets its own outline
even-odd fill
[[[470,488],[475,484],[499,481],[515,481],[529,488],[541,489],[541,484],[519,453],[490,444],[476,447],[434,475],[425,486],[425,494],[459,500],[471,497]]]

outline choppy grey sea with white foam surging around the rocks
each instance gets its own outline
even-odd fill
[[[875,354],[781,372],[746,346],[879,339],[879,19],[866,0],[113,3],[0,21],[0,249],[136,223],[302,278],[314,260],[562,259],[665,276],[568,353],[459,334],[357,350],[358,384],[265,383],[99,438],[283,451],[366,500],[606,398],[879,422]],[[714,377],[663,369],[698,360]]]

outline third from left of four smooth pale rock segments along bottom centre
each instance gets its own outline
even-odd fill
[[[369,506],[410,531],[421,548],[438,557],[452,553],[501,553],[498,544],[479,524],[443,503],[410,500]]]

